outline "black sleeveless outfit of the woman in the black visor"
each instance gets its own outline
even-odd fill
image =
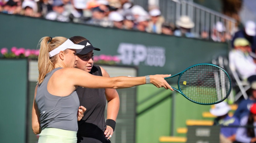
[[[100,67],[97,65],[93,65],[90,73],[92,75],[102,76]],[[86,108],[84,117],[78,122],[78,136],[89,138],[104,136],[106,129],[104,113],[107,103],[105,89],[78,87],[76,89],[76,93],[78,94],[80,106],[84,106]],[[103,140],[105,140],[104,138],[105,137],[103,137]],[[104,142],[103,140],[101,142]]]

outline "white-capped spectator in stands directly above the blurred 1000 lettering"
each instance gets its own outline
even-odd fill
[[[148,32],[149,33],[162,33],[163,19],[161,16],[161,11],[159,9],[152,9],[149,11],[151,19],[148,21]]]

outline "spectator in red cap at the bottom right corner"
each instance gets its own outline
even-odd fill
[[[255,143],[256,103],[252,104],[249,113],[241,119],[240,125],[236,132],[236,140],[241,143]]]

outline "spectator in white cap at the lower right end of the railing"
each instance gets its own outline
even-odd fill
[[[224,31],[226,30],[222,22],[218,21],[212,28],[211,39],[215,42],[225,42],[226,37]]]

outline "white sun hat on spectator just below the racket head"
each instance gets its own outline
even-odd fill
[[[220,102],[214,105],[215,108],[210,109],[210,113],[214,116],[223,116],[228,113],[230,107],[228,106],[227,102]]]

